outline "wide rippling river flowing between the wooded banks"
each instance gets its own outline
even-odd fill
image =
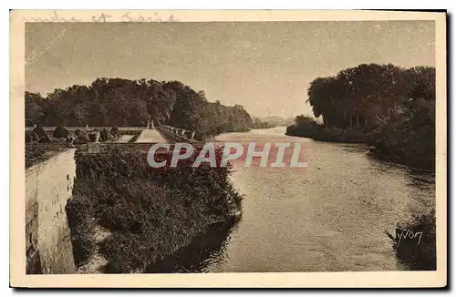
[[[435,207],[433,174],[380,161],[360,145],[285,136],[285,128],[229,133],[220,141],[299,142],[306,168],[245,168],[233,162],[244,194],[242,219],[214,226],[154,271],[398,271],[398,223]]]

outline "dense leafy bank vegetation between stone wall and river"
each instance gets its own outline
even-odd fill
[[[95,250],[95,225],[111,232],[99,251],[108,260],[105,272],[116,273],[144,271],[212,222],[231,220],[242,197],[228,179],[230,169],[192,168],[196,153],[177,168],[161,169],[152,169],[143,152],[112,148],[77,154],[77,182],[67,213],[78,265]]]

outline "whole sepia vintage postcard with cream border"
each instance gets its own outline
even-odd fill
[[[446,286],[444,12],[10,23],[11,286]]]

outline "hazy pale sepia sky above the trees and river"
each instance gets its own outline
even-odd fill
[[[435,65],[433,21],[28,23],[26,90],[180,80],[254,116],[311,114],[309,83],[361,63]]]

